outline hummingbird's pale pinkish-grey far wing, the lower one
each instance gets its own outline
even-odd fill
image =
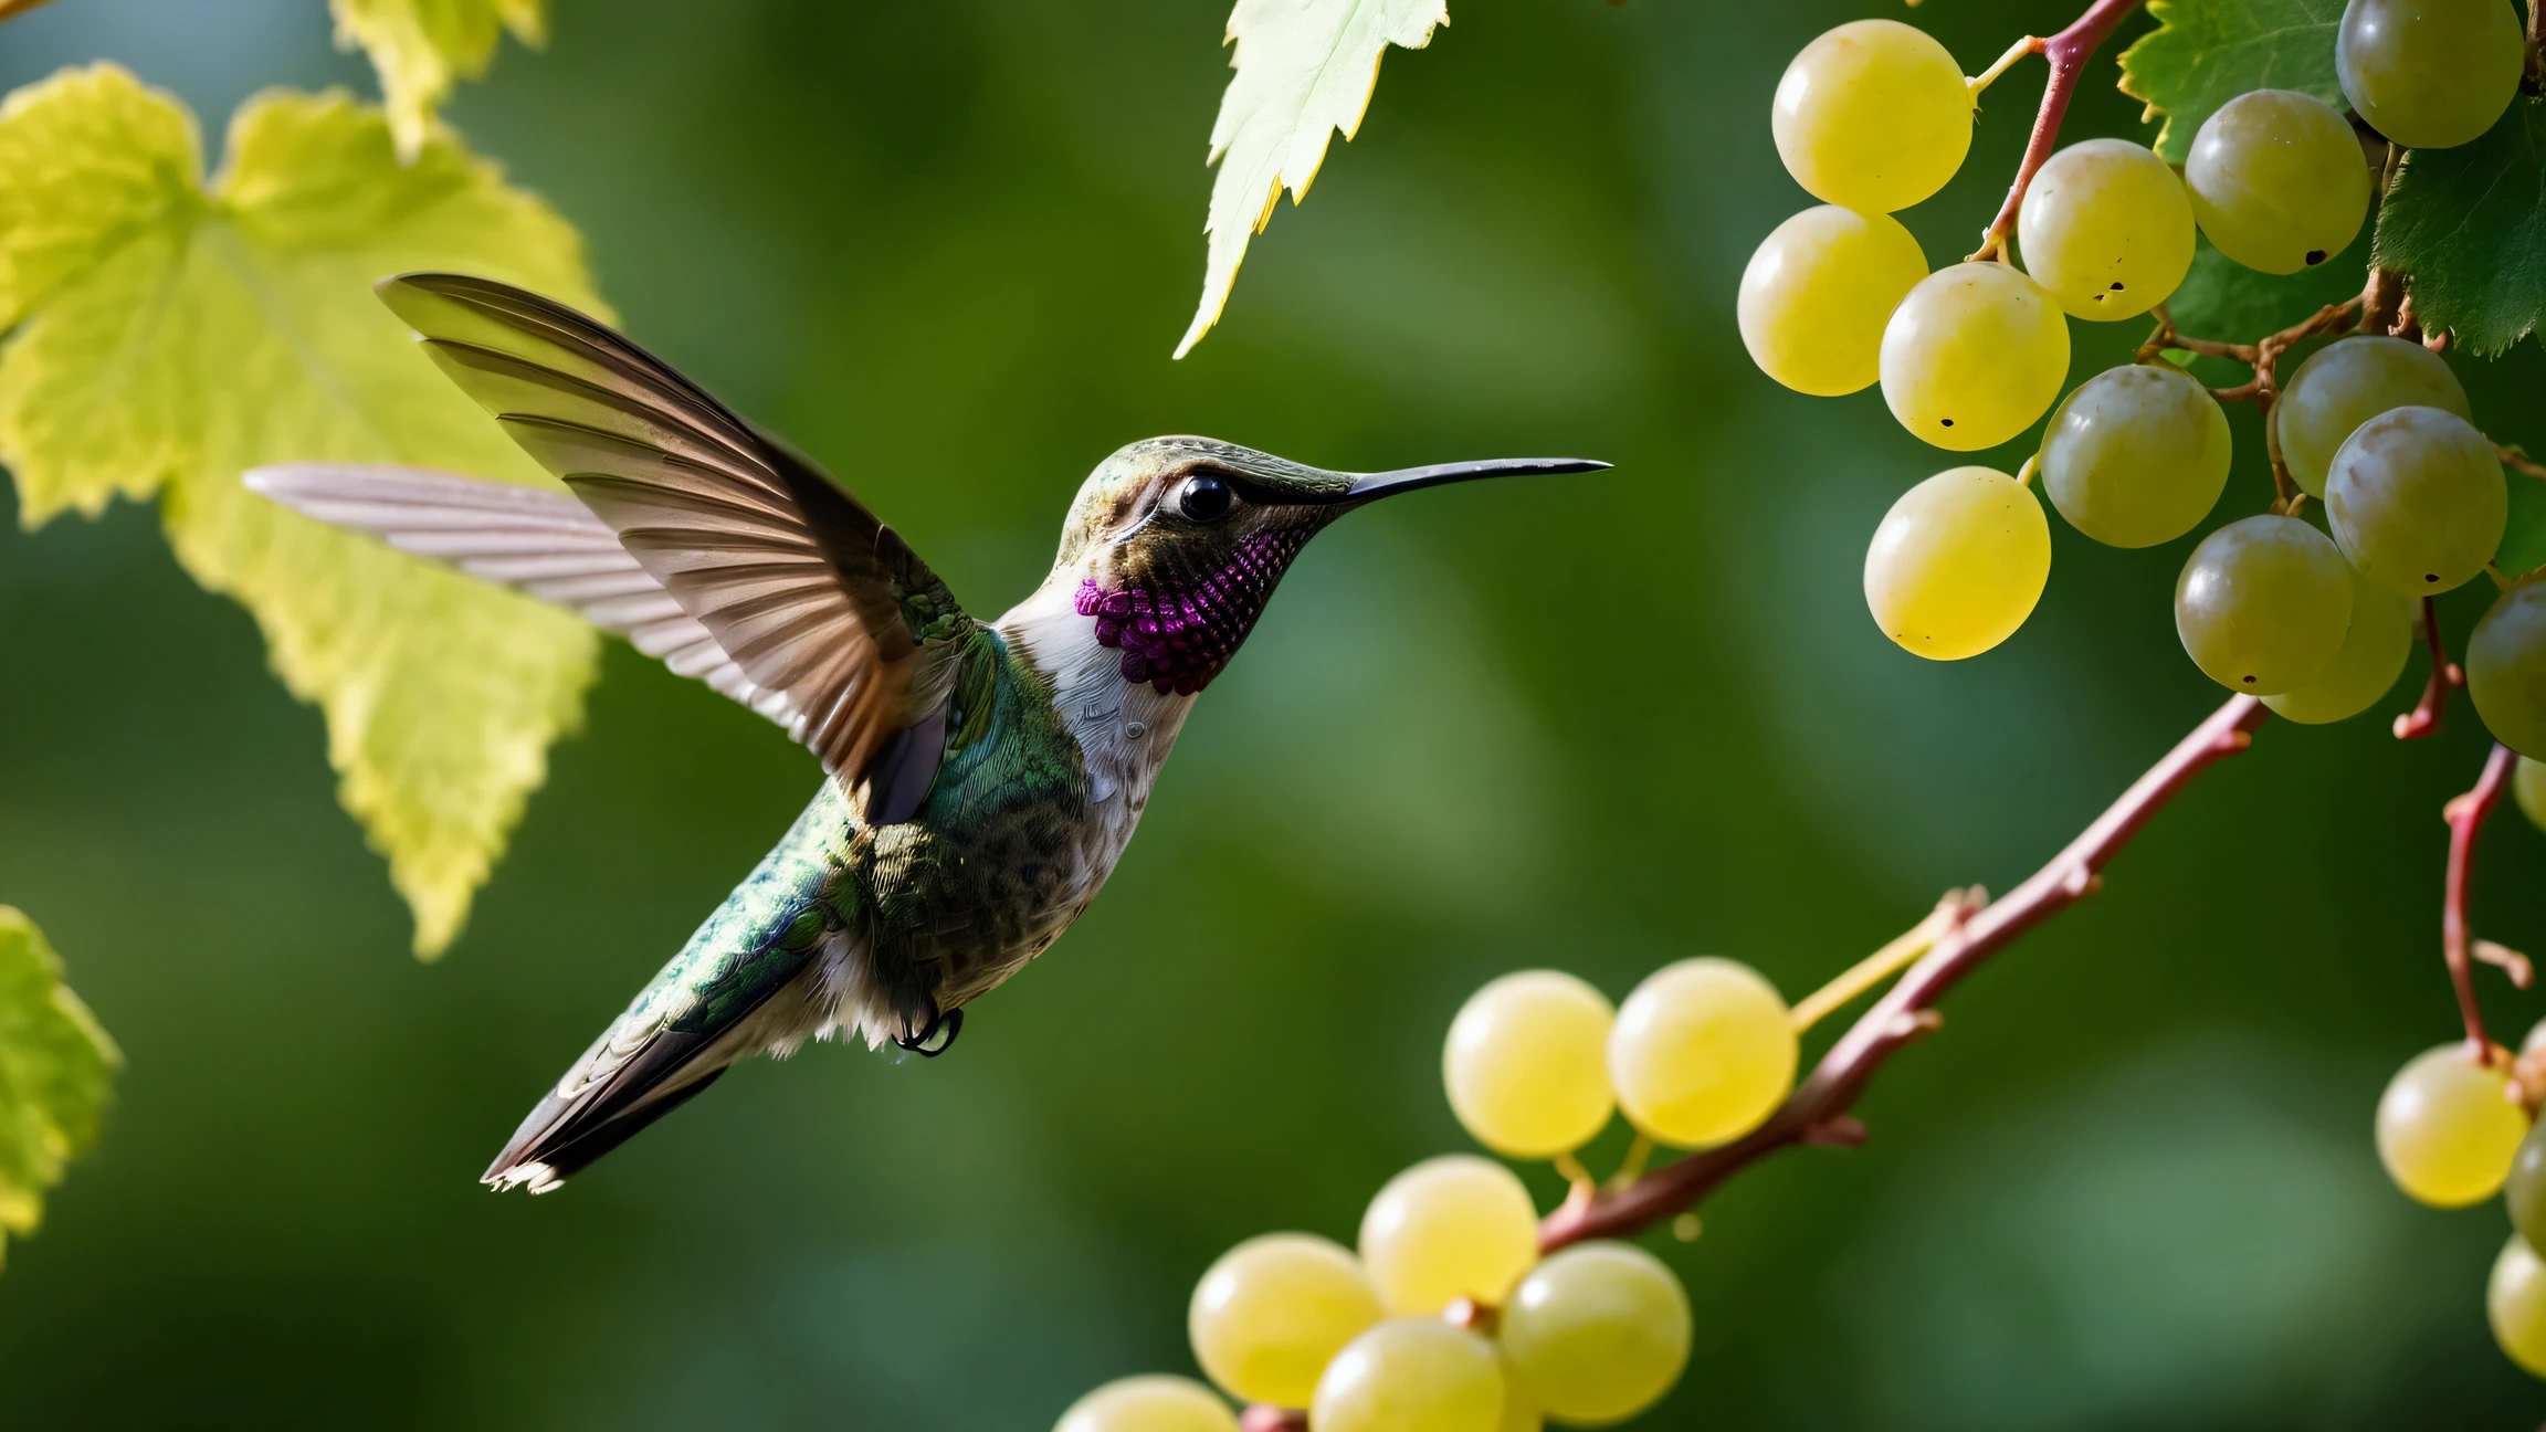
[[[247,487],[275,502],[402,553],[517,586],[616,632],[675,675],[769,716],[789,731],[802,713],[784,691],[756,685],[690,612],[636,566],[619,533],[565,492],[461,476],[425,466],[298,461],[260,466]]]

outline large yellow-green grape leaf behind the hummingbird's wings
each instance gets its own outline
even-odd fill
[[[578,234],[448,132],[400,166],[379,110],[267,92],[227,150],[206,189],[176,99],[104,64],[0,110],[0,321],[15,324],[0,464],[31,527],[160,499],[186,571],[250,609],[285,688],[326,713],[339,795],[415,912],[415,950],[435,956],[550,741],[580,721],[598,637],[285,512],[239,474],[344,459],[547,484],[372,280],[448,268],[603,308]],[[20,245],[15,214],[59,219]]]

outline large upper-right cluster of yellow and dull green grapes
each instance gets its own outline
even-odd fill
[[[2337,48],[2353,107],[2421,148],[2490,127],[2523,54],[2500,0],[2350,0]],[[1994,448],[2060,397],[2067,319],[2164,303],[2192,268],[2195,229],[2246,268],[2296,273],[2342,252],[2368,214],[2353,125],[2309,94],[2256,89],[2202,122],[2179,173],[2128,140],[2052,153],[2016,211],[2022,270],[1988,252],[1927,273],[1892,214],[1960,168],[1978,84],[1897,20],[1838,25],[1787,66],[1777,153],[1825,204],[1780,224],[1741,275],[1741,339],[1769,377],[1815,395],[1879,382],[1920,438]],[[2353,336],[2309,357],[2271,423],[2330,535],[2286,515],[2207,535],[2174,596],[2192,660],[2299,721],[2378,701],[2409,660],[2409,599],[2475,578],[2503,540],[2503,466],[2470,418],[2457,377],[2421,344]],[[2037,464],[2072,527],[2146,548],[2210,515],[2228,446],[2210,390],[2149,354],[2078,385],[2052,410]],[[1892,505],[1866,550],[1866,604],[1884,634],[1958,660],[2024,624],[2052,561],[2029,476],[1955,466]],[[2503,741],[2546,752],[2546,584],[2503,594],[2475,629],[2467,680]]]

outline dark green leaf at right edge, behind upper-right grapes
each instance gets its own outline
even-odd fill
[[[2406,273],[2424,331],[2482,357],[2533,334],[2546,319],[2546,102],[2515,99],[2454,150],[2406,150],[2370,255]]]

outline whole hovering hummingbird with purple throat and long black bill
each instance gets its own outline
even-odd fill
[[[1087,910],[1194,698],[1354,507],[1512,459],[1326,471],[1146,438],[1080,484],[1051,573],[967,614],[812,459],[614,329],[458,273],[379,280],[425,354],[565,492],[418,466],[244,474],[306,517],[580,612],[822,762],[787,836],[486,1170],[547,1192],[736,1060],[863,1037],[942,1055]]]

